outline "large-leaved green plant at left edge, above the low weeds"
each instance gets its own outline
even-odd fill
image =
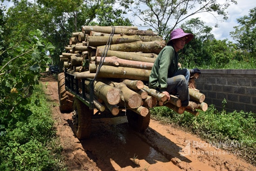
[[[27,99],[39,84],[41,72],[45,72],[49,59],[47,52],[54,49],[51,43],[44,41],[40,30],[29,33],[30,41],[20,45],[11,44],[6,49],[8,57],[0,66],[0,135],[6,133],[8,125],[31,114],[22,105],[30,102]],[[12,114],[15,111],[16,115]],[[19,113],[19,114],[17,114]]]

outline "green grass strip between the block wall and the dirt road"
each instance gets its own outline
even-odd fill
[[[218,112],[210,105],[195,117],[189,112],[178,114],[161,106],[150,110],[153,119],[181,127],[218,148],[229,150],[256,165],[256,114],[252,112]]]

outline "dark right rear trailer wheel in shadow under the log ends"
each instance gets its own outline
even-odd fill
[[[148,128],[150,122],[150,113],[143,117],[136,112],[128,110],[126,114],[129,126],[134,128],[136,131],[144,132]]]

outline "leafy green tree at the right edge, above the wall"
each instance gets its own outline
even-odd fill
[[[249,10],[249,15],[237,19],[239,26],[234,26],[234,32],[230,32],[237,42],[237,46],[248,57],[256,59],[256,7]]]

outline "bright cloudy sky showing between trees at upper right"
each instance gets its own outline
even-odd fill
[[[217,1],[223,1],[223,0],[217,0]],[[205,22],[205,26],[212,26],[213,30],[211,33],[214,34],[215,38],[218,40],[228,39],[229,41],[235,41],[232,39],[232,37],[229,35],[230,32],[235,31],[233,28],[234,26],[238,26],[238,23],[236,22],[236,19],[243,17],[245,15],[249,14],[249,10],[256,7],[256,0],[236,0],[237,5],[230,5],[227,9],[228,11],[228,20],[225,20],[223,22],[218,22],[219,27],[214,27],[216,24],[216,19],[213,18],[212,15],[207,13],[202,13],[198,15],[194,15],[193,18],[199,17],[200,20]],[[11,2],[4,1],[4,5],[7,7],[12,6]],[[136,23],[136,20],[135,20]],[[140,28],[139,28],[140,29]],[[143,30],[143,29],[142,29]]]

